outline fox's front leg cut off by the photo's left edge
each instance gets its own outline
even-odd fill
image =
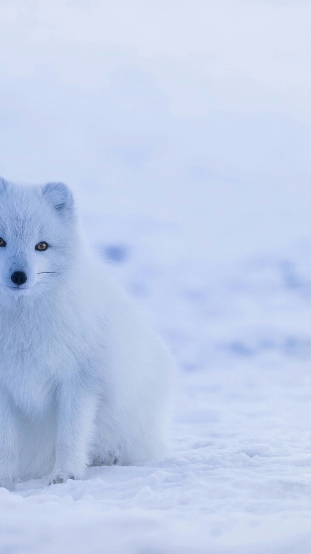
[[[0,486],[10,490],[18,469],[17,432],[15,407],[0,389]]]

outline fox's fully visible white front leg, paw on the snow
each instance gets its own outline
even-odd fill
[[[95,415],[95,401],[72,383],[58,391],[56,459],[49,484],[81,479]]]

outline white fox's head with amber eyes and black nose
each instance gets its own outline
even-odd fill
[[[74,227],[65,184],[22,187],[0,178],[0,296],[59,286],[75,255]]]

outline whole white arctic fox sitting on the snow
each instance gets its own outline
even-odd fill
[[[89,256],[63,183],[0,179],[0,484],[165,454],[173,363]]]

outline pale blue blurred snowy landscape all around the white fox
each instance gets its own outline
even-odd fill
[[[0,551],[309,554],[311,6],[4,0],[0,173],[63,180],[180,367],[172,456],[0,489]]]

